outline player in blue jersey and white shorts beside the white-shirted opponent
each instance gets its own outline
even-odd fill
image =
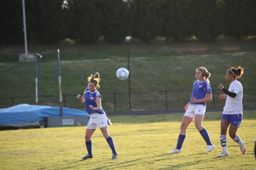
[[[182,152],[182,144],[186,137],[186,129],[188,125],[195,119],[195,127],[204,138],[207,148],[205,152],[210,152],[215,149],[215,145],[210,141],[210,137],[206,129],[202,126],[204,113],[206,110],[206,102],[211,101],[211,87],[209,84],[210,73],[204,67],[196,69],[196,78],[194,81],[193,92],[189,103],[185,106],[185,114],[182,119],[180,134],[176,148],[168,154]]]

